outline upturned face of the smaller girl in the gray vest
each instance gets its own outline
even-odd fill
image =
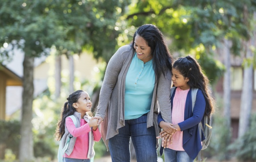
[[[76,108],[78,113],[81,113],[81,117],[84,116],[86,112],[90,111],[92,103],[88,93],[82,92],[78,101],[73,104],[73,107]]]

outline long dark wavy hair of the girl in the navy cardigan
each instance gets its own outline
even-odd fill
[[[215,106],[209,89],[209,80],[202,72],[198,61],[191,56],[180,57],[174,62],[172,68],[178,70],[184,78],[189,78],[187,84],[190,88],[198,88],[202,91],[206,101],[204,116],[210,116],[214,113]]]

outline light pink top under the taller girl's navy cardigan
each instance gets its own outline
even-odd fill
[[[180,87],[176,88],[172,103],[172,124],[178,124],[184,121],[185,104],[188,93],[189,89],[181,90]],[[177,151],[184,151],[182,131],[177,131],[177,133],[172,136],[172,145],[169,144],[168,148]]]

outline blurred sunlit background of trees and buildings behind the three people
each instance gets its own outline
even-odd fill
[[[174,59],[191,55],[210,80],[217,110],[203,161],[256,161],[256,0],[0,4],[0,162],[57,162],[66,98],[85,90],[96,113],[109,59],[146,23],[163,32]],[[102,140],[94,149],[95,162],[111,162]]]

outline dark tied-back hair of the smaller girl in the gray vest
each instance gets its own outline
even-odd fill
[[[61,117],[58,121],[55,131],[55,136],[58,141],[62,138],[62,136],[65,133],[65,119],[67,118],[67,116],[71,116],[76,112],[76,109],[73,107],[73,103],[76,103],[78,101],[82,92],[85,91],[77,90],[76,92],[70,94],[67,98],[67,102],[65,102],[64,107],[62,108]]]

